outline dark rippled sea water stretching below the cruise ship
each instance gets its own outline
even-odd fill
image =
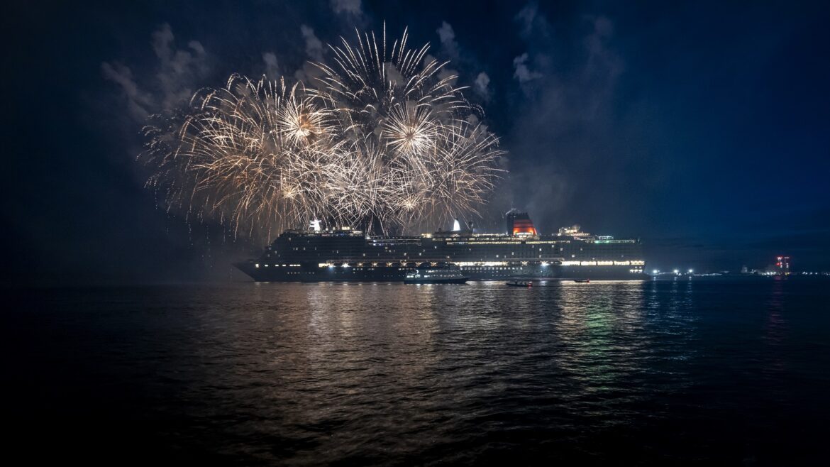
[[[830,281],[7,291],[4,454],[827,465]]]

